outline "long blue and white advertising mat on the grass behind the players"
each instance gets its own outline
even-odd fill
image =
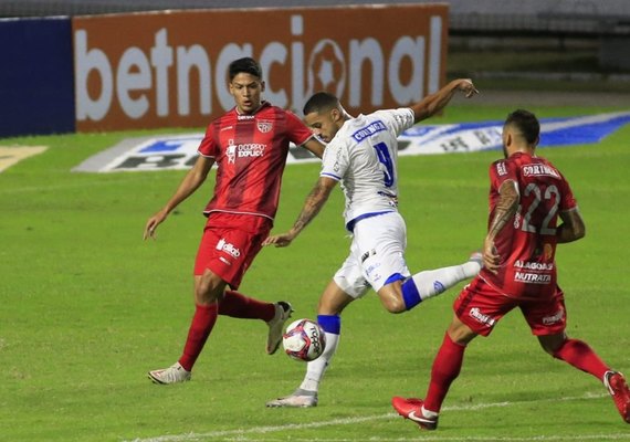
[[[539,147],[597,144],[630,124],[630,112],[540,119]],[[501,149],[503,122],[418,125],[398,138],[406,155],[437,155]],[[74,171],[112,172],[188,169],[197,158],[203,134],[127,138],[75,167]],[[287,164],[319,161],[307,150],[291,146]]]

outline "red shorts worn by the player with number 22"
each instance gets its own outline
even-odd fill
[[[536,336],[563,333],[567,325],[565,295],[560,287],[542,299],[508,297],[476,276],[453,304],[458,318],[474,333],[487,336],[494,325],[515,307],[519,307]]]

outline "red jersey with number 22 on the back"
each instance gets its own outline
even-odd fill
[[[495,238],[501,256],[496,275],[483,269],[480,275],[512,297],[548,297],[556,291],[556,227],[558,213],[577,207],[567,180],[549,161],[514,154],[490,167],[490,218],[494,219],[498,189],[513,180],[519,206],[511,223]]]

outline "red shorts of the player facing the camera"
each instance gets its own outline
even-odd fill
[[[197,252],[195,275],[202,275],[209,269],[238,288],[272,225],[272,220],[264,217],[210,213]]]

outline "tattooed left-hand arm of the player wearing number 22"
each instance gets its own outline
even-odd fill
[[[504,181],[498,188],[498,202],[494,209],[494,218],[487,229],[487,235],[483,243],[483,266],[492,273],[496,273],[500,265],[500,256],[496,254],[494,239],[497,233],[514,218],[518,209],[518,189],[513,180]]]

